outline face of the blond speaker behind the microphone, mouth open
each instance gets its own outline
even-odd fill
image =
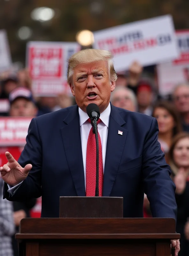
[[[74,68],[71,91],[83,111],[89,103],[95,103],[102,113],[109,105],[115,82],[110,81],[108,64],[100,60]]]

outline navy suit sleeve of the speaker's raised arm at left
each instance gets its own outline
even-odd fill
[[[36,119],[33,118],[26,137],[26,145],[22,151],[19,164],[25,167],[26,164],[32,164],[26,180],[11,193],[8,191],[8,185],[4,184],[4,198],[9,201],[26,201],[31,198],[41,196],[41,172],[42,172],[42,143],[40,140]]]

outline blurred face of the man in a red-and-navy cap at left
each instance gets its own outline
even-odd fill
[[[10,116],[36,116],[37,108],[32,101],[24,98],[14,100],[10,108]]]

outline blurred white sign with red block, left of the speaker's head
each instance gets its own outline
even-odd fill
[[[33,81],[35,96],[56,96],[67,92],[66,82],[68,59],[78,52],[77,43],[29,42],[27,65]]]

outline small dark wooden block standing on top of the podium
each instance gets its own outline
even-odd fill
[[[123,218],[123,197],[60,196],[60,218]]]

